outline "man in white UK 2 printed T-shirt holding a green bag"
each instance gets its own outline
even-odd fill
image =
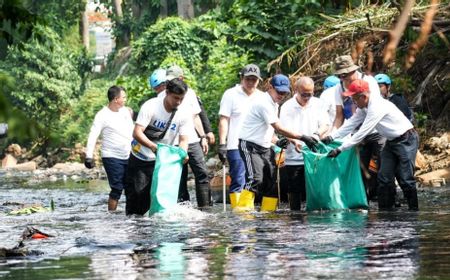
[[[179,108],[186,91],[187,85],[183,81],[173,79],[167,83],[164,97],[149,99],[139,111],[125,187],[127,215],[144,215],[150,208],[157,144],[175,145],[178,140],[180,148],[188,149],[192,115],[190,111]]]

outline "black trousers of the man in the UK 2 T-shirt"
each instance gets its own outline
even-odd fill
[[[150,209],[150,188],[154,170],[155,161],[143,161],[130,154],[125,185],[127,215],[144,215]]]

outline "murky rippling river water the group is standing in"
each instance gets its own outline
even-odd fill
[[[419,213],[107,213],[105,181],[0,181],[0,247],[33,226],[53,238],[25,241],[42,254],[0,259],[0,279],[449,279],[450,188],[420,192]],[[195,197],[192,195],[191,197]],[[53,212],[7,215],[11,202]],[[7,203],[8,202],[8,203]],[[287,209],[287,205],[281,205]]]

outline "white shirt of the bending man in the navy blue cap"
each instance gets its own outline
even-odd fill
[[[278,104],[268,92],[256,98],[242,122],[239,139],[246,140],[264,148],[272,145],[274,129],[272,124],[279,121]]]

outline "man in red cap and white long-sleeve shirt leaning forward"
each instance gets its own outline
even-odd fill
[[[342,138],[357,126],[361,127],[328,156],[338,156],[341,151],[358,144],[376,128],[387,139],[381,151],[381,166],[378,172],[378,208],[391,209],[394,206],[395,178],[397,178],[409,209],[419,210],[414,178],[419,137],[413,125],[392,102],[378,95],[372,95],[369,83],[364,80],[353,81],[344,95],[351,97],[358,109],[339,130],[323,141],[328,143],[332,139]]]

